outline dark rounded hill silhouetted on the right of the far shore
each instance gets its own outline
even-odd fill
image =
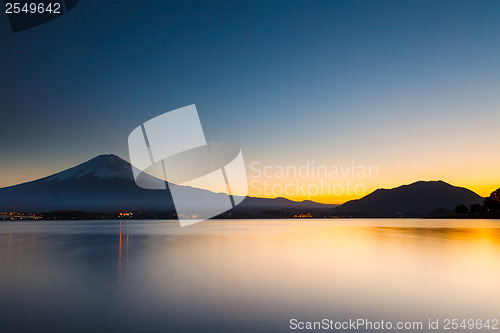
[[[436,209],[453,210],[458,205],[481,204],[483,198],[463,187],[443,181],[419,181],[390,190],[378,189],[335,208],[337,215],[396,217],[427,216]]]

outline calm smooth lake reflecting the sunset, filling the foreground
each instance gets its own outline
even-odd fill
[[[294,318],[499,319],[500,221],[0,222],[1,332],[299,331]]]

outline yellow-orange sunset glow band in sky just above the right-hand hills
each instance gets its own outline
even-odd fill
[[[429,151],[426,158],[421,158],[422,153],[404,152],[395,156],[387,152],[358,161],[323,159],[288,161],[287,164],[273,158],[253,162],[247,169],[248,195],[342,204],[377,189],[391,189],[417,181],[441,180],[481,197],[500,188],[500,154]]]

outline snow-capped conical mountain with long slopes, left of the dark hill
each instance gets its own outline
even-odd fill
[[[185,190],[203,191],[190,187]],[[334,206],[284,198],[246,198],[241,204],[241,208],[256,211],[319,207]],[[139,188],[130,164],[115,155],[101,155],[54,175],[0,189],[0,211],[173,209],[169,191]]]

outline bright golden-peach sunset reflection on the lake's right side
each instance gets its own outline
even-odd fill
[[[177,240],[159,238],[141,269],[165,297],[216,299],[239,316],[249,304],[263,317],[367,309],[399,318],[497,315],[500,302],[489,295],[500,295],[499,224],[469,223],[477,227],[425,220],[211,221],[185,228]]]

